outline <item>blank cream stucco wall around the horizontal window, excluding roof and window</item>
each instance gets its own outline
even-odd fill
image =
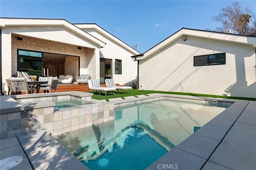
[[[215,53],[226,53],[226,64],[194,66],[194,56]],[[255,64],[252,45],[190,36],[140,61],[139,87],[256,98]]]

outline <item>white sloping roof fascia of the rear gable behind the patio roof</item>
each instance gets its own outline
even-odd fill
[[[124,43],[123,41],[121,41],[120,39],[118,39],[108,31],[106,31],[102,27],[98,26],[96,23],[82,23],[82,24],[75,23],[74,25],[76,25],[80,29],[94,29],[98,33],[108,37],[109,39],[112,39],[112,41],[120,45],[122,48],[125,48],[126,50],[130,51],[131,53],[140,54],[140,52],[136,51],[135,49],[133,49],[132,47],[130,47],[129,45],[127,45],[126,43]]]

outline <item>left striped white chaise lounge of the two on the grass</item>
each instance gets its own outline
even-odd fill
[[[106,92],[113,92],[114,94],[114,90],[116,90],[116,88],[114,87],[101,87],[99,79],[89,79],[88,86],[89,86],[89,91],[93,90],[93,94],[94,94],[94,91],[99,91],[99,95],[100,95],[100,93],[104,91],[105,96],[106,96]]]

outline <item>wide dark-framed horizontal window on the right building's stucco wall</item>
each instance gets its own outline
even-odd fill
[[[194,56],[194,66],[226,64],[226,53]]]

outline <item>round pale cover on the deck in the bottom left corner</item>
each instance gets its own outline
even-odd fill
[[[9,158],[5,158],[0,160],[0,169],[1,170],[8,170],[13,168],[14,166],[18,165],[23,158],[21,156],[12,156]]]

